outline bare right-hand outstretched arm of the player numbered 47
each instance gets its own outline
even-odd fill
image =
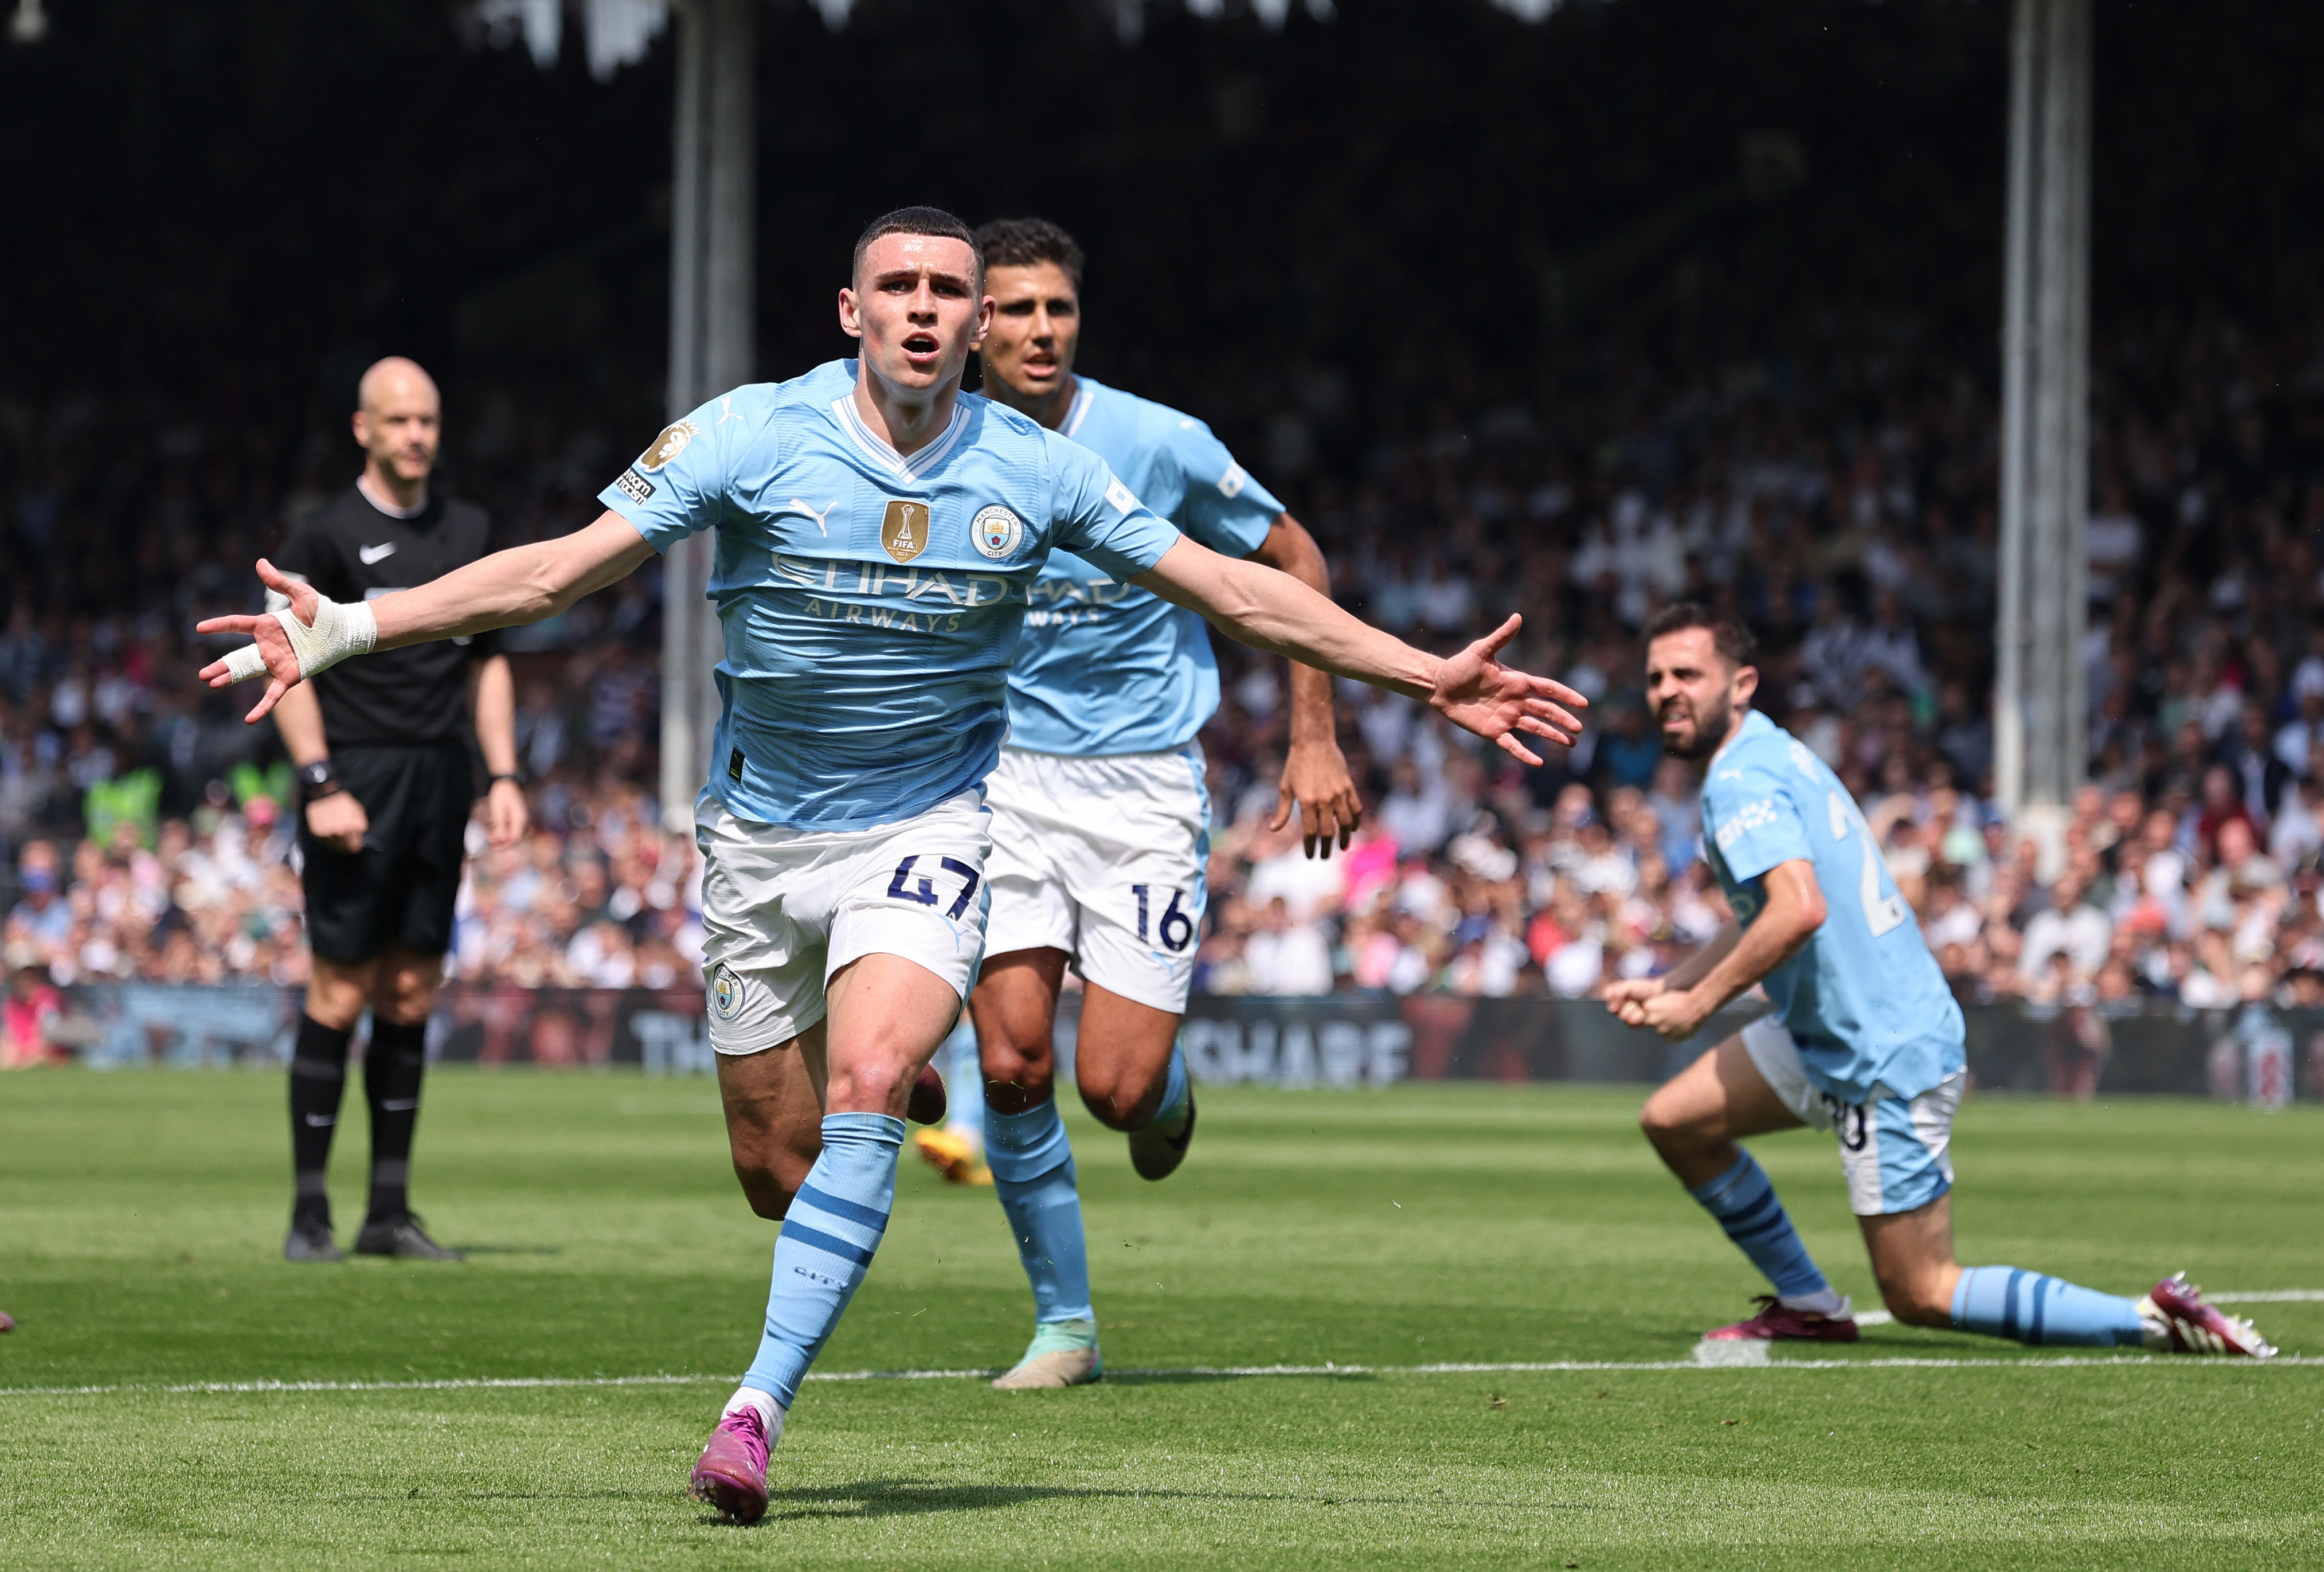
[[[1439,658],[1360,623],[1290,574],[1220,556],[1183,537],[1132,584],[1199,612],[1227,637],[1253,649],[1287,656],[1334,677],[1355,677],[1376,688],[1425,698],[1462,730],[1497,742],[1529,765],[1538,765],[1541,756],[1527,749],[1518,733],[1571,746],[1583,728],[1573,709],[1590,705],[1564,684],[1494,660],[1494,653],[1518,637],[1515,616],[1457,656]]]

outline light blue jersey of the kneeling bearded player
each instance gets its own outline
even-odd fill
[[[1917,1098],[1966,1063],[1961,1007],[1855,798],[1757,709],[1710,760],[1703,856],[1745,928],[1766,905],[1766,870],[1815,863],[1824,926],[1762,986],[1820,1091],[1845,1102],[1866,1102],[1873,1086]]]

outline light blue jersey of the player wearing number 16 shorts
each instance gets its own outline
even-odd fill
[[[1283,505],[1202,421],[1076,374],[1064,435],[1146,507],[1225,556],[1250,556]],[[1202,616],[1057,549],[1032,586],[1009,672],[1009,746],[1074,758],[1185,746],[1218,709],[1218,656]]]

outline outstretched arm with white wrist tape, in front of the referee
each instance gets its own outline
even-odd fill
[[[365,649],[400,649],[402,644],[425,644],[428,639],[456,639],[493,628],[516,628],[555,616],[593,591],[637,572],[637,565],[653,556],[653,546],[627,519],[616,512],[597,516],[597,523],[572,535],[541,540],[530,546],[509,546],[476,558],[467,567],[456,567],[442,579],[430,579],[418,588],[395,591],[360,607],[342,607],[323,600],[314,586],[258,560],[260,581],[284,595],[300,623],[304,639],[295,639],[281,616],[211,616],[195,623],[195,633],[246,633],[256,651],[256,663],[235,651],[225,660],[202,667],[202,681],[225,688],[244,677],[267,677],[267,691],[251,707],[244,721],[258,721],[302,677],[311,677],[335,660]],[[321,621],[318,621],[321,619]],[[316,635],[328,630],[323,649],[316,651]],[[365,639],[370,633],[370,639]],[[356,639],[356,642],[349,642]],[[297,644],[309,649],[302,660]],[[321,656],[321,663],[316,663]]]

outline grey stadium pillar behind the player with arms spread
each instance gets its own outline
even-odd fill
[[[758,0],[683,0],[676,170],[669,202],[669,419],[751,381],[758,342],[755,105]],[[690,830],[709,777],[725,653],[706,600],[711,535],[662,567],[662,821]]]

